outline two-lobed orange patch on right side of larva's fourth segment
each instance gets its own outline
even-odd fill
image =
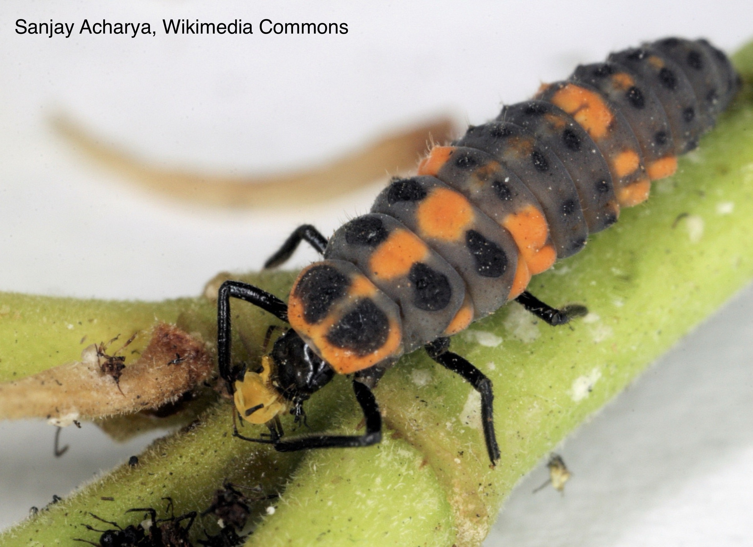
[[[556,252],[551,246],[546,246],[549,226],[541,211],[526,205],[520,211],[507,215],[500,224],[512,234],[532,274],[548,270],[554,264]]]

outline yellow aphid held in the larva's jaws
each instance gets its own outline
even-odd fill
[[[239,414],[251,423],[267,423],[288,406],[270,382],[272,366],[269,356],[262,357],[261,366],[261,373],[246,371],[243,380],[236,380],[233,394]]]

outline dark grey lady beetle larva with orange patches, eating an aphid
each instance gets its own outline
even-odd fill
[[[395,179],[367,215],[327,240],[298,228],[267,261],[287,260],[301,240],[324,255],[297,277],[285,304],[237,281],[218,297],[218,360],[243,420],[270,435],[241,439],[278,451],[380,442],[371,392],[404,353],[424,347],[481,396],[492,464],[499,458],[492,384],[448,351],[450,335],[517,300],[550,325],[585,313],[557,310],[526,286],[535,273],[583,249],[620,207],[648,198],[651,180],[675,172],[740,87],[730,61],[708,41],[665,38],[579,66],[533,100],[505,106],[495,121],[434,146],[417,176]],[[289,322],[259,372],[230,363],[230,298]],[[279,414],[303,417],[303,402],[334,374],[353,374],[363,435],[282,439]]]

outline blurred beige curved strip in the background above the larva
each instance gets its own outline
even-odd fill
[[[84,157],[124,176],[147,191],[184,203],[231,209],[284,207],[340,197],[371,182],[416,169],[433,142],[447,142],[456,132],[447,116],[375,139],[309,170],[270,175],[222,175],[162,167],[125,147],[96,136],[65,115],[51,118],[53,128]]]

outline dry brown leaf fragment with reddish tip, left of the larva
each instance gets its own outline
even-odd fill
[[[194,390],[215,369],[202,341],[165,323],[154,327],[148,347],[117,379],[108,374],[111,356],[101,348],[92,344],[81,361],[0,384],[0,419],[41,417],[67,426],[156,409]]]

